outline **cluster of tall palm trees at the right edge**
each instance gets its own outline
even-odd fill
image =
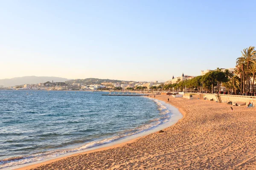
[[[250,46],[241,51],[242,56],[236,59],[236,74],[240,77],[241,93],[253,89],[254,80],[256,76],[256,50],[255,47]],[[237,79],[238,77],[236,77]],[[234,82],[234,79],[230,79]],[[235,81],[237,87],[237,81]]]

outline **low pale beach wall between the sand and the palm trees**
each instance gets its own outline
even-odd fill
[[[214,101],[217,101],[217,94],[203,94],[204,98],[207,100],[213,99]],[[227,95],[227,94],[220,94],[221,102],[245,102],[248,104],[249,102],[256,104],[256,96],[238,96],[238,95]]]

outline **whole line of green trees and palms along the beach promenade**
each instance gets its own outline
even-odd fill
[[[256,76],[256,50],[250,46],[241,51],[241,57],[236,59],[236,69],[231,73],[228,69],[221,71],[217,68],[203,76],[197,76],[185,81],[176,82],[163,86],[163,90],[189,91],[189,92],[211,92],[220,91],[220,87],[226,88],[227,92],[233,94],[254,94],[253,85]],[[247,94],[246,94],[247,93]]]

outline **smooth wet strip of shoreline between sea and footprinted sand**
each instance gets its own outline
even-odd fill
[[[143,97],[154,99],[154,97],[150,97],[150,96],[143,96]],[[171,107],[171,108],[177,108],[177,107],[171,105],[167,101],[160,100],[160,99],[157,99],[157,100],[164,102],[165,104],[169,105],[169,107]],[[107,144],[102,144],[102,145],[99,145],[99,146],[96,146],[96,147],[88,148],[88,149],[85,149],[85,151],[81,150],[81,151],[76,151],[76,152],[70,152],[70,153],[66,153],[64,155],[57,156],[55,158],[49,158],[49,159],[45,159],[45,160],[42,160],[42,161],[36,161],[38,163],[31,162],[31,163],[28,163],[28,164],[20,164],[20,165],[14,166],[14,167],[6,167],[6,169],[27,170],[27,169],[31,169],[31,168],[35,168],[35,167],[44,165],[44,164],[49,164],[49,163],[52,163],[52,162],[55,162],[55,161],[59,161],[61,159],[66,159],[66,158],[69,158],[69,157],[83,155],[83,154],[87,154],[87,153],[104,151],[104,150],[108,150],[108,149],[112,149],[112,148],[116,148],[116,147],[121,147],[125,144],[130,144],[130,143],[136,141],[137,139],[141,139],[141,138],[143,138],[145,136],[148,136],[152,133],[157,133],[159,130],[164,130],[167,127],[175,125],[177,122],[180,122],[180,120],[185,117],[186,113],[182,110],[182,108],[177,108],[177,110],[182,115],[182,117],[180,119],[178,119],[177,121],[176,121],[176,119],[174,119],[174,121],[176,121],[175,123],[172,123],[172,119],[170,119],[168,122],[163,123],[161,125],[158,125],[157,127],[154,127],[153,129],[149,129],[149,130],[146,130],[145,132],[141,132],[141,133],[138,133],[138,134],[135,134],[135,135],[132,135],[132,136],[128,136],[124,139],[118,139],[116,141],[113,141],[113,142],[110,142],[110,143],[107,143]]]

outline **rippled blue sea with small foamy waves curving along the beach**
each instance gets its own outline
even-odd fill
[[[157,100],[102,94],[0,91],[0,168],[110,143],[172,116]]]

